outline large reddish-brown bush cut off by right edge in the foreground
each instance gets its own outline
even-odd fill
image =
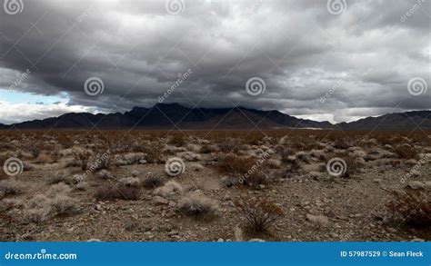
[[[429,192],[406,187],[404,191],[393,191],[394,196],[386,204],[395,217],[413,226],[431,226],[431,199]]]

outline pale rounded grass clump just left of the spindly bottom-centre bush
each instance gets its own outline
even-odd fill
[[[178,202],[177,211],[188,216],[213,216],[218,211],[218,205],[201,192],[189,192]]]

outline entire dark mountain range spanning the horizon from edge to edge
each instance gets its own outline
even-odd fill
[[[356,122],[316,122],[279,111],[245,107],[187,108],[178,103],[157,103],[151,108],[134,107],[125,113],[65,113],[58,117],[33,120],[0,129],[154,129],[154,130],[277,130],[291,128],[342,130],[431,130],[431,111],[388,113]]]

